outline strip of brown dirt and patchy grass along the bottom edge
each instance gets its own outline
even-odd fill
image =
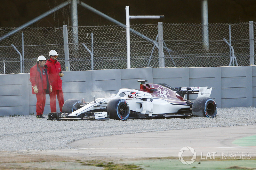
[[[92,158],[92,157],[76,157],[76,156],[57,156],[44,154],[31,154],[29,151],[19,152],[0,152],[0,169],[84,169],[84,170],[137,170],[137,169],[207,169],[216,170],[221,167],[223,170],[232,169],[255,169],[256,157],[248,161],[228,160],[228,161],[207,161],[196,160],[190,166],[180,163],[178,158]],[[219,167],[220,166],[220,167]]]

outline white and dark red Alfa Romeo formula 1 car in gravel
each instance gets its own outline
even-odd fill
[[[166,84],[145,84],[138,80],[140,90],[120,89],[108,98],[92,102],[68,99],[62,113],[48,114],[48,120],[127,120],[128,118],[150,118],[190,116],[215,117],[216,102],[210,98],[212,88],[176,87]],[[198,94],[196,100],[189,100],[190,94]],[[186,98],[186,99],[185,99]]]

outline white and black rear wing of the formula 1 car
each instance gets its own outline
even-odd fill
[[[189,100],[189,94],[198,94],[197,98],[210,97],[212,92],[212,87],[176,87],[176,90],[181,92],[182,97],[187,94],[187,100]]]

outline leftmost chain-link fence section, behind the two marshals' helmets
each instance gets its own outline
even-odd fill
[[[1,36],[15,28],[0,29]],[[24,70],[29,72],[36,64],[37,57],[48,57],[51,49],[56,49],[60,54],[63,50],[63,29],[57,28],[26,28],[0,41],[0,74],[20,73],[20,55],[12,47],[12,44],[22,54],[22,33],[24,34]],[[62,57],[60,57],[62,58]],[[62,63],[63,64],[63,63]],[[5,66],[5,69],[4,69]],[[65,63],[64,63],[65,66]]]

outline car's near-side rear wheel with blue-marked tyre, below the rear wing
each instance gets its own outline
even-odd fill
[[[209,97],[198,98],[192,105],[192,114],[198,117],[215,117],[217,114],[216,102]]]

